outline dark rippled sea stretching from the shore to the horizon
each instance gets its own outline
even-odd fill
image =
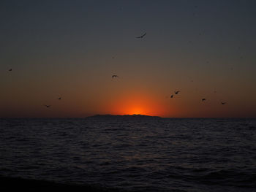
[[[0,174],[127,191],[256,191],[256,119],[1,119]]]

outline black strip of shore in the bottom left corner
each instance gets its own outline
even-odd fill
[[[0,191],[83,191],[83,192],[121,192],[116,188],[103,188],[93,185],[72,185],[54,183],[51,181],[29,180],[19,177],[0,176]],[[123,191],[125,192],[125,191]]]

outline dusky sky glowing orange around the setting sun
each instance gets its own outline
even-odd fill
[[[0,1],[0,118],[256,118],[255,9],[253,0]]]

